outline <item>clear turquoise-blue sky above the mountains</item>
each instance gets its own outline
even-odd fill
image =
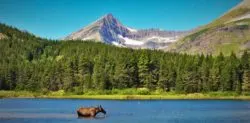
[[[0,22],[60,39],[107,13],[136,29],[190,30],[241,0],[0,0]]]

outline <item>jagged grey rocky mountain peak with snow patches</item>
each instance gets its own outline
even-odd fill
[[[107,14],[89,26],[67,36],[65,40],[96,40],[130,48],[166,48],[188,32],[160,29],[137,30],[124,26],[112,14]]]

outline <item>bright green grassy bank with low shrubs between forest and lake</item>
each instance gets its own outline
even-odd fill
[[[193,93],[193,94],[177,94],[173,92],[162,94],[149,95],[126,95],[126,94],[68,94],[63,91],[50,92],[47,94],[34,93],[27,91],[0,91],[0,98],[66,98],[66,99],[110,99],[110,100],[171,100],[171,99],[236,99],[236,100],[250,100],[250,95],[237,95],[233,92],[210,92],[210,93]]]

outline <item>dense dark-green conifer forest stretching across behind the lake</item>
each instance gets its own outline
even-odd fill
[[[249,92],[250,54],[188,55],[93,41],[59,41],[0,24],[0,90],[84,94],[148,89]]]

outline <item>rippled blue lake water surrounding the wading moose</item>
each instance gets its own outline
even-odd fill
[[[107,117],[79,119],[80,106],[101,104]],[[250,101],[0,99],[0,123],[249,123]]]

